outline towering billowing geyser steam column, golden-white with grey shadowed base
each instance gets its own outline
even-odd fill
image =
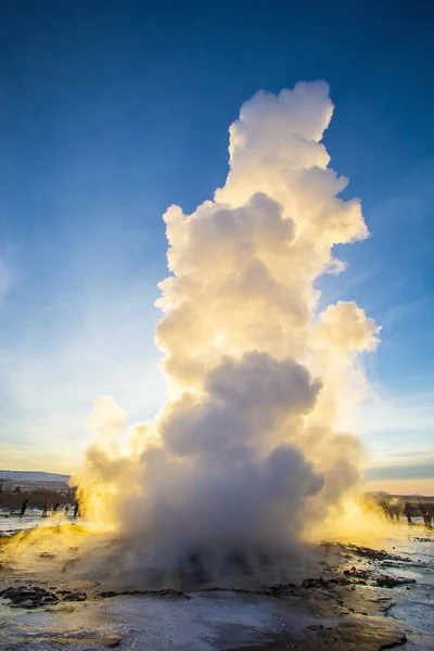
[[[368,235],[321,143],[332,113],[323,81],[258,92],[230,127],[214,201],[164,216],[169,398],[135,427],[100,398],[80,477],[89,518],[123,532],[130,567],[286,551],[359,483],[346,426],[380,329],[355,303],[317,310],[316,279],[344,270],[333,246]]]

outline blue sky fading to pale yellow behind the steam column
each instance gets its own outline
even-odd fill
[[[155,413],[162,213],[221,186],[243,101],[323,78],[372,238],[320,289],[383,328],[367,476],[432,490],[433,27],[399,0],[1,3],[0,468],[73,470],[97,395]]]

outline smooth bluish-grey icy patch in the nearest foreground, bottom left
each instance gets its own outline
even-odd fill
[[[130,651],[212,651],[260,641],[285,627],[298,631],[311,623],[280,602],[240,599],[231,592],[189,597],[119,597],[49,612],[9,609],[0,648],[20,649],[25,642],[29,651],[51,651],[60,642],[77,650],[116,646]]]

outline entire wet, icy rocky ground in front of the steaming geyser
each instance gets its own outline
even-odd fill
[[[434,537],[421,526],[399,529],[383,551],[323,544],[296,572],[158,590],[73,574],[75,547],[62,565],[46,547],[15,558],[13,524],[0,546],[1,651],[434,650]]]

